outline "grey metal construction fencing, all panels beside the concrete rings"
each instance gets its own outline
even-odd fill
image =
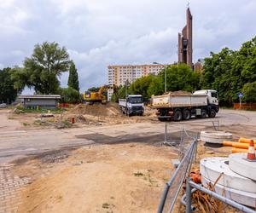
[[[213,123],[212,125],[216,130],[218,126],[215,126]],[[183,196],[185,198],[183,203],[186,204],[186,213],[190,213],[193,209],[193,206],[191,205],[191,194],[196,190],[202,193],[206,193],[211,198],[218,199],[220,202],[228,204],[237,210],[241,210],[242,212],[256,213],[256,211],[242,204],[238,204],[231,199],[227,199],[224,196],[221,196],[218,193],[215,193],[210,189],[203,187],[200,184],[196,184],[194,181],[191,181],[188,176],[191,165],[195,161],[198,136],[199,135],[197,133],[187,131],[185,129],[182,129],[181,132],[172,132],[171,134],[169,133],[165,135],[164,144],[176,147],[181,160],[177,166],[177,169],[172,174],[170,181],[166,183],[166,187],[162,193],[157,212],[172,212],[175,204],[177,203],[177,196],[181,187],[183,186],[184,180],[186,179],[186,193]],[[187,147],[186,143],[188,143],[188,141],[191,144],[186,149],[185,147]]]

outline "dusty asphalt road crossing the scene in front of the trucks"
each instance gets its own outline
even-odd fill
[[[197,132],[211,128],[212,121],[220,125],[255,125],[256,129],[256,112],[221,110],[216,118],[169,122],[167,131],[171,136],[182,128]],[[94,143],[163,141],[165,123],[102,125],[65,130],[19,130],[19,127],[18,121],[8,119],[7,111],[0,111],[0,165],[38,153]]]

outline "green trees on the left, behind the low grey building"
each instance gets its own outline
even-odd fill
[[[67,88],[61,88],[60,78],[69,72]],[[15,101],[25,87],[34,89],[35,94],[61,95],[62,102],[79,102],[79,75],[67,49],[58,43],[35,45],[31,57],[24,60],[23,66],[0,70],[0,101]]]

